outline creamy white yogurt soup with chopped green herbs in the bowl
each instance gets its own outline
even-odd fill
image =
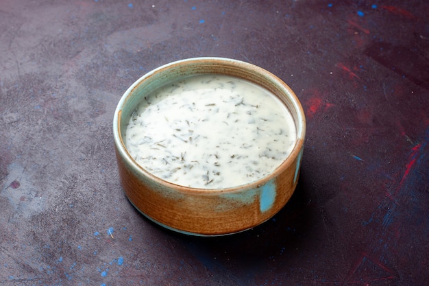
[[[269,91],[227,75],[195,75],[144,97],[123,134],[149,173],[185,187],[254,182],[291,153],[291,113]]]

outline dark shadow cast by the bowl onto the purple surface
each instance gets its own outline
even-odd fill
[[[219,237],[196,237],[151,224],[204,264],[208,270],[247,276],[252,269],[262,271],[270,261],[293,261],[312,239],[312,202],[308,184],[301,174],[291,200],[267,222],[242,233]],[[149,220],[148,220],[149,221]],[[289,263],[291,263],[289,261]],[[219,271],[220,270],[220,271]]]

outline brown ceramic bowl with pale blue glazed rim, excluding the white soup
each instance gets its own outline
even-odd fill
[[[143,169],[125,147],[123,130],[147,93],[174,80],[201,74],[230,75],[253,82],[277,96],[291,112],[297,139],[277,169],[254,182],[225,189],[183,187]],[[121,97],[114,112],[114,145],[119,178],[128,200],[147,218],[188,235],[238,233],[278,213],[295,191],[299,177],[306,122],[295,93],[278,77],[253,64],[228,58],[190,58],[165,64],[137,80]]]

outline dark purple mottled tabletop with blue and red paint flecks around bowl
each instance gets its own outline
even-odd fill
[[[0,3],[0,285],[427,285],[428,1]],[[119,185],[121,95],[222,56],[307,116],[297,191],[245,233],[147,221]]]

